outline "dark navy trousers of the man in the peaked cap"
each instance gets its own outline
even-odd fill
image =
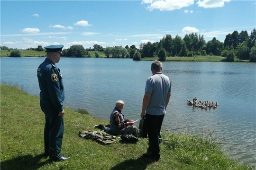
[[[62,155],[61,145],[64,133],[63,116],[58,116],[58,112],[50,108],[44,108],[46,124],[44,130],[45,154],[49,154],[50,159],[56,161]]]

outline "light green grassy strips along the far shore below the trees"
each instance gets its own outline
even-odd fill
[[[1,51],[1,57],[9,57],[10,52],[12,50],[8,51],[8,50],[2,50]],[[95,56],[95,51],[88,51],[90,53],[91,58],[96,58]],[[104,52],[99,51],[99,58],[107,58],[104,54]],[[31,50],[22,50],[22,56],[21,57],[46,57],[46,52],[45,51],[31,51]],[[111,58],[111,57],[110,57]],[[141,58],[142,61],[154,61],[154,60],[158,60],[157,57],[145,57],[145,58]],[[193,57],[166,57],[166,61],[226,61],[225,57],[221,57],[221,56],[202,56],[202,55],[198,55],[198,56],[193,56]],[[248,59],[242,60],[242,59],[237,59],[235,58],[234,61],[237,62],[249,62]]]

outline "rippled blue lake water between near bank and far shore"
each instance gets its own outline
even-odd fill
[[[38,96],[37,67],[44,59],[0,58],[1,83],[19,85]],[[151,62],[62,58],[56,65],[64,78],[64,105],[109,120],[115,102],[123,100],[125,118],[140,119]],[[221,146],[231,159],[256,166],[256,63],[169,61],[163,62],[163,73],[173,84],[162,130],[188,127],[169,132],[196,135],[210,131],[229,143]],[[188,106],[187,99],[194,97],[219,106],[207,110]]]

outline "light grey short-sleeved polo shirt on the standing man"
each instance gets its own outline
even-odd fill
[[[146,113],[150,115],[165,114],[167,93],[171,92],[172,80],[163,73],[155,73],[146,80],[145,93],[151,94]]]

